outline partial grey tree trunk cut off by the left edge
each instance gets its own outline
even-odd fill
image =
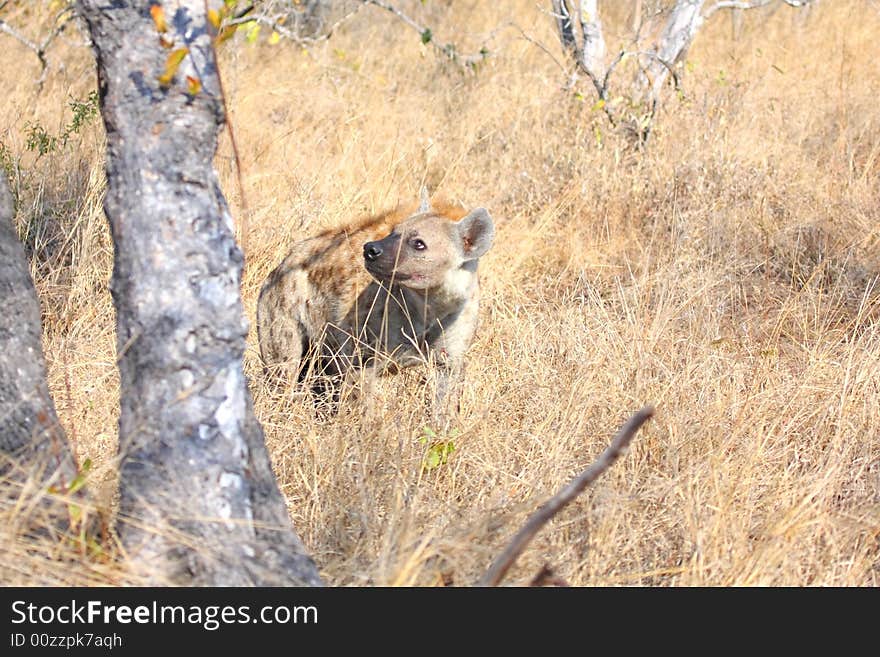
[[[46,385],[40,303],[0,173],[0,475],[63,488],[73,456]]]

